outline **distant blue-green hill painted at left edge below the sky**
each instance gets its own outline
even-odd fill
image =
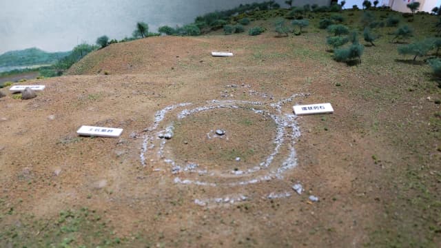
[[[70,52],[45,52],[38,48],[10,51],[0,55],[0,67],[52,64],[69,54]]]

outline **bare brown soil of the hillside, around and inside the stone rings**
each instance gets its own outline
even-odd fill
[[[127,238],[133,247],[375,244],[376,230],[393,229],[394,221],[400,225],[409,214],[399,208],[389,212],[390,204],[405,202],[396,198],[393,184],[400,167],[423,154],[426,167],[439,169],[436,148],[441,144],[429,134],[428,123],[440,105],[426,100],[439,95],[407,90],[427,81],[422,74],[398,78],[380,63],[372,70],[336,63],[322,47],[325,34],[321,40],[310,39],[313,36],[318,34],[141,39],[89,54],[69,76],[27,82],[45,84],[46,89],[29,101],[0,99],[0,198],[8,199],[4,209],[13,206],[16,213],[4,216],[2,225],[15,225],[24,213],[50,219],[63,209],[89,207],[103,213],[116,236]],[[365,63],[378,56],[388,60],[373,49]],[[209,52],[214,50],[232,51],[234,56],[212,57]],[[237,87],[227,87],[232,84]],[[229,99],[260,101],[263,108],[271,108],[271,103],[296,93],[310,95],[287,103],[283,114],[291,114],[296,103],[323,102],[332,103],[335,113],[297,119],[298,166],[283,178],[245,186],[183,185],[174,180],[185,174],[156,170],[171,167],[156,155],[153,161],[147,156],[146,167],[141,165],[143,136],[150,134],[145,129],[168,105],[197,107]],[[176,121],[178,110],[170,113],[165,122]],[[260,161],[261,154],[272,149],[276,130],[274,121],[246,110],[211,110],[175,124],[166,152],[177,161],[200,158],[198,163],[219,173],[234,169],[236,154],[243,154],[240,163],[245,167]],[[81,125],[120,127],[124,132],[121,138],[78,137]],[[216,128],[224,128],[229,141],[207,140],[207,132]],[[415,128],[420,132],[410,131]],[[418,145],[406,145],[411,140]],[[205,177],[192,175],[195,180]],[[296,194],[291,189],[295,183],[306,192]],[[439,193],[440,183],[429,190]],[[266,197],[285,192],[291,196]],[[195,204],[196,199],[240,195],[247,200]],[[320,201],[312,203],[310,195]],[[439,243],[440,237],[432,241]]]

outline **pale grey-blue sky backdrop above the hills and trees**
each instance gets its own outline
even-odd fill
[[[0,54],[32,47],[68,51],[82,42],[95,43],[102,35],[130,37],[137,21],[156,32],[161,25],[191,23],[198,15],[254,1],[258,0],[0,0]],[[287,7],[284,0],[276,2]],[[361,3],[347,0],[345,7]]]

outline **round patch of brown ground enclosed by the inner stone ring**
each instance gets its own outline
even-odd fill
[[[225,133],[216,135],[218,130]],[[276,123],[270,116],[243,108],[207,110],[176,121],[166,150],[178,165],[245,169],[238,166],[258,166],[271,154],[275,137]]]

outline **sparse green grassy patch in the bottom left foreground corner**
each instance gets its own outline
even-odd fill
[[[65,210],[57,218],[17,216],[20,225],[0,227],[1,247],[115,247],[125,241],[113,234],[97,211]]]

